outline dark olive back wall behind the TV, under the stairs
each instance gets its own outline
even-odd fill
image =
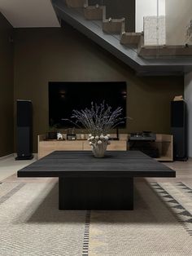
[[[170,101],[183,94],[182,77],[136,77],[128,66],[67,25],[15,29],[15,99],[33,101],[34,152],[37,135],[48,130],[50,81],[126,81],[128,115],[133,117],[129,132],[169,133]]]

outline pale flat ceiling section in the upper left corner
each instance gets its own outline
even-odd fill
[[[60,26],[50,0],[0,0],[0,12],[14,28]]]

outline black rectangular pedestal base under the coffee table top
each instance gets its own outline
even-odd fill
[[[59,210],[133,210],[133,178],[59,177]]]

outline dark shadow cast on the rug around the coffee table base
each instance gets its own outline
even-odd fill
[[[37,205],[28,223],[78,223],[85,222],[86,210],[59,210],[58,183]],[[34,202],[31,207],[34,208]],[[177,223],[167,206],[144,181],[135,183],[134,210],[91,210],[91,222],[101,223]]]

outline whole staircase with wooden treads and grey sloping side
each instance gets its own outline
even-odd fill
[[[88,0],[53,0],[68,24],[136,70],[138,75],[181,75],[192,70],[192,46],[146,46],[143,33],[125,31],[125,19],[106,17],[105,6]]]

